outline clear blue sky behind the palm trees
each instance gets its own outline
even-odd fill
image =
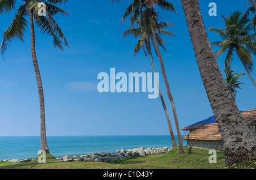
[[[168,126],[160,98],[148,99],[148,93],[99,93],[96,85],[100,72],[152,72],[150,59],[141,53],[133,57],[137,40],[122,37],[129,28],[127,19],[121,25],[125,8],[131,1],[68,1],[61,5],[70,16],[56,16],[70,49],[54,49],[52,38],[36,30],[36,53],[42,75],[46,105],[47,135],[168,135]],[[168,28],[176,37],[164,36],[167,52],[162,50],[167,78],[174,96],[180,128],[213,115],[200,77],[184,12],[178,0],[179,14],[160,11],[161,21],[174,24]],[[224,27],[221,14],[246,10],[246,1],[199,1],[205,27]],[[209,16],[209,3],[216,2],[217,16]],[[0,33],[9,27],[14,14],[1,16]],[[208,32],[210,41],[219,38]],[[213,48],[216,51],[216,48]],[[30,31],[24,44],[13,41],[0,58],[0,136],[40,135],[39,99],[30,52]],[[224,70],[225,55],[218,58]],[[155,58],[156,71],[160,72]],[[245,72],[234,59],[235,72]],[[223,71],[222,71],[223,72]],[[254,79],[256,72],[251,74]],[[162,75],[160,87],[176,134],[170,101]],[[255,87],[248,76],[241,78],[237,93],[240,110],[256,108]],[[181,131],[184,134],[183,131]]]

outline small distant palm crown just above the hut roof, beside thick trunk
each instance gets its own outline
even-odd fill
[[[244,73],[233,74],[234,70],[229,70],[229,71],[224,70],[224,71],[226,74],[226,79],[224,79],[226,86],[228,87],[229,92],[232,95],[233,99],[236,101],[236,93],[237,93],[236,89],[237,88],[241,89],[240,84],[243,84],[240,81],[238,81],[238,79],[241,78],[241,76],[244,76],[245,74]]]

